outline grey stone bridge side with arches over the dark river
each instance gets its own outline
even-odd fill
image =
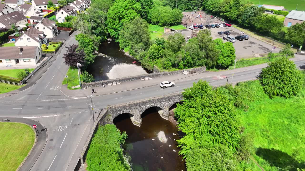
[[[141,115],[150,107],[155,107],[160,116],[168,120],[170,108],[176,105],[176,103],[181,102],[182,99],[183,96],[181,92],[179,92],[150,99],[122,103],[115,106],[107,106],[107,111],[100,121],[103,122],[103,124],[112,124],[117,116],[127,113],[132,123],[140,127],[142,124]]]

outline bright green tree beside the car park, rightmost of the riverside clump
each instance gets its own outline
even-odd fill
[[[221,39],[215,39],[213,41],[216,44],[216,49],[221,51],[218,56],[217,64],[221,67],[230,66],[236,58],[233,44],[231,42],[223,43]]]

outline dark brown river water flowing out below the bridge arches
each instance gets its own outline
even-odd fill
[[[131,156],[133,171],[186,170],[175,141],[179,139],[176,123],[161,118],[154,108],[142,114],[141,127],[132,124],[128,114],[119,115],[113,122],[128,135],[123,148]],[[164,132],[166,138],[159,140],[160,131]]]

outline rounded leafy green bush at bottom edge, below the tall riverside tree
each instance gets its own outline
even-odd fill
[[[224,145],[192,145],[186,155],[187,171],[235,171],[232,151]]]

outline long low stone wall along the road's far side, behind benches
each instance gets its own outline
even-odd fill
[[[199,67],[199,68],[191,68],[186,69],[185,71],[196,71],[196,72],[203,72],[206,71],[206,67]],[[183,70],[179,71],[173,71],[173,72],[159,72],[159,73],[153,73],[153,74],[144,74],[144,75],[136,75],[136,76],[130,76],[130,77],[124,77],[124,78],[118,78],[118,79],[109,79],[109,80],[102,80],[102,81],[96,81],[96,82],[90,82],[90,83],[84,83],[82,82],[82,88],[92,88],[92,87],[99,87],[102,86],[102,83],[104,85],[108,85],[108,83],[113,82],[127,82],[127,81],[135,81],[135,80],[141,80],[141,78],[145,77],[161,77],[165,75],[175,75],[175,74],[182,74]]]

